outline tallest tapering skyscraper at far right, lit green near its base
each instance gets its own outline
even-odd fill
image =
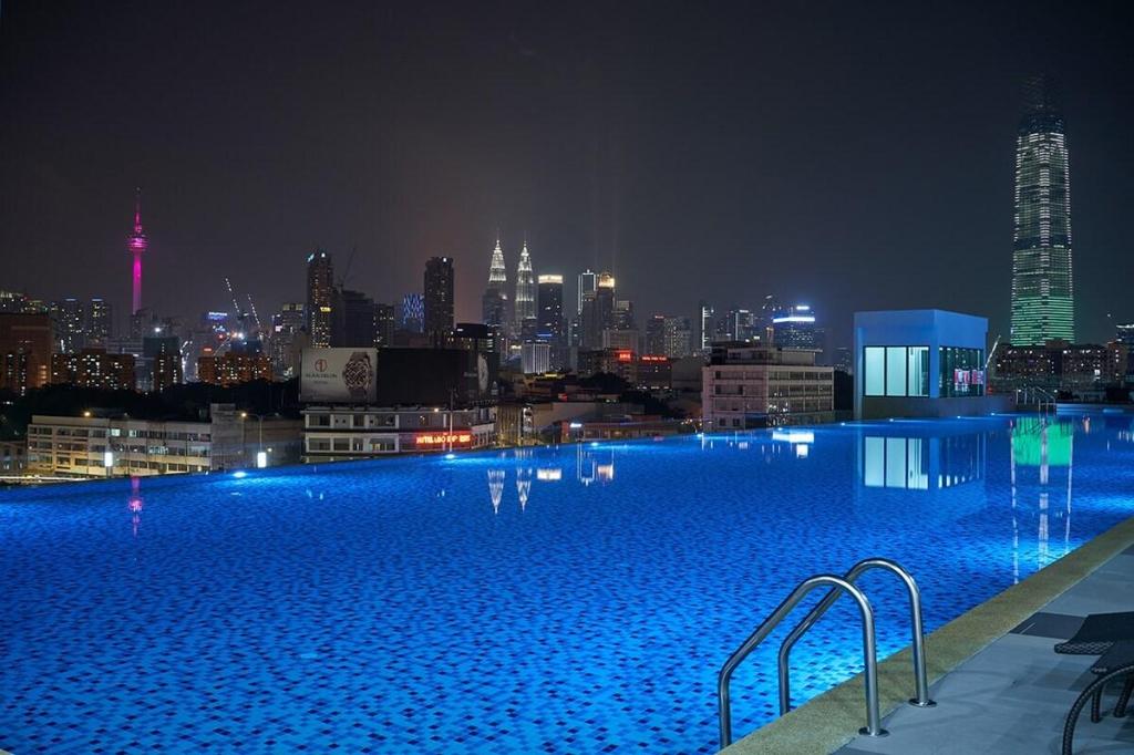
[[[1029,82],[1016,134],[1012,343],[1075,341],[1070,173],[1064,118],[1047,77]]]

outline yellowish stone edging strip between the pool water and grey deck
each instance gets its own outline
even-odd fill
[[[925,639],[930,684],[1008,634],[1052,599],[1134,544],[1134,517],[1035,572],[1018,585],[963,613]],[[916,565],[912,565],[916,569]],[[863,726],[862,675],[812,698],[722,750],[727,755],[829,755]],[[887,715],[913,696],[909,648],[878,665],[879,701]]]

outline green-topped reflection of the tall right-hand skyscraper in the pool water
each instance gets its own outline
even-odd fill
[[[1035,566],[1042,569],[1070,550],[1070,490],[1075,429],[1046,417],[1021,417],[1012,426],[1013,576],[1019,580],[1019,533],[1035,531]],[[1066,470],[1066,473],[1064,473]],[[1066,475],[1066,483],[1060,475]],[[1035,509],[1030,509],[1035,501]],[[1061,502],[1061,506],[1060,506]],[[1034,516],[1035,521],[1029,523]],[[1061,527],[1059,519],[1063,519]],[[1055,520],[1055,523],[1052,523]],[[1063,529],[1063,552],[1050,533]]]

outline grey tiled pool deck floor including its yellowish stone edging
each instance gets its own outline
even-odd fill
[[[1064,721],[1095,656],[1059,655],[1088,613],[1134,611],[1134,518],[1099,535],[926,637],[931,709],[913,695],[909,650],[879,663],[887,737],[863,737],[862,675],[726,748],[726,755],[1059,753]],[[1114,707],[1112,690],[1103,712]],[[1076,755],[1134,752],[1134,715],[1084,713]]]

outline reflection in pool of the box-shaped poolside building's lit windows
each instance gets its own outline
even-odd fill
[[[943,490],[984,476],[983,433],[920,438],[863,435],[858,477],[865,487]]]

